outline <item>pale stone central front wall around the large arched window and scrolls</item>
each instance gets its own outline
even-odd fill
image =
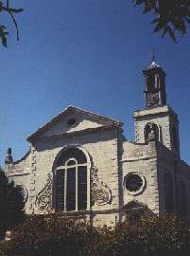
[[[77,145],[90,155],[92,159],[91,168],[93,166],[96,168],[98,181],[103,182],[112,192],[110,204],[102,206],[95,204],[92,210],[118,210],[118,141],[117,129],[113,128],[71,137],[45,137],[33,143],[28,156],[30,158],[29,174],[26,177],[21,176],[22,183],[26,183],[29,196],[26,212],[43,213],[35,206],[36,196],[43,190],[47,174],[52,174],[56,156],[67,145]],[[22,165],[23,170],[26,170],[25,163],[19,163],[19,165]],[[15,165],[14,169],[18,169],[18,166]],[[17,183],[17,177],[13,176],[13,179]]]

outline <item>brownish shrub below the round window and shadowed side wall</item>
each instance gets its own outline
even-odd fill
[[[190,221],[148,216],[118,224],[90,245],[88,256],[189,256]]]

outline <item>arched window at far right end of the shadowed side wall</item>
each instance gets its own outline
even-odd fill
[[[181,216],[186,215],[187,205],[186,205],[186,190],[185,186],[182,182],[180,182],[178,187],[178,206],[179,206],[179,214]]]

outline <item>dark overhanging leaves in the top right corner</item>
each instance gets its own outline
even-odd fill
[[[184,35],[190,24],[190,0],[133,0],[134,4],[144,6],[143,13],[153,11],[154,32],[168,34],[176,42],[177,31]]]

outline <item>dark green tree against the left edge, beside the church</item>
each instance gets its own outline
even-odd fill
[[[0,240],[5,237],[6,230],[14,228],[24,219],[24,207],[20,188],[9,182],[0,168]]]

